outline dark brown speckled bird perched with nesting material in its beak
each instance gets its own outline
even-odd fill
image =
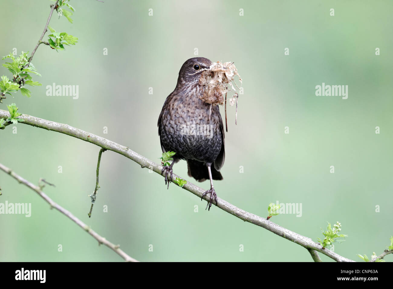
[[[217,193],[213,180],[222,180],[220,169],[224,165],[224,125],[218,105],[206,103],[200,96],[204,87],[199,78],[212,62],[204,57],[193,57],[184,62],[179,71],[176,87],[167,96],[158,117],[158,135],[161,149],[175,152],[169,166],[163,166],[165,185],[172,181],[173,165],[187,161],[187,174],[199,182],[210,179],[210,194],[206,209],[213,199],[217,206]],[[168,175],[170,177],[168,178]]]

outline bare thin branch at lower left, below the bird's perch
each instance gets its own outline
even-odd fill
[[[48,197],[43,191],[41,191],[41,189],[39,187],[35,186],[34,184],[29,182],[28,180],[23,179],[22,177],[20,177],[16,173],[14,173],[11,169],[7,168],[3,164],[0,164],[0,169],[5,171],[7,174],[11,175],[19,183],[22,183],[22,184],[28,186],[29,188],[31,188],[32,190],[36,191],[48,204],[50,204],[51,208],[55,208],[56,210],[61,212],[63,215],[66,215],[68,218],[70,218],[74,223],[76,223],[83,230],[85,230],[91,236],[93,236],[94,239],[96,239],[98,241],[99,245],[104,244],[105,246],[114,250],[117,254],[119,254],[119,256],[121,256],[121,258],[123,258],[124,260],[126,260],[128,262],[138,262],[134,258],[131,258],[130,256],[128,256],[123,250],[119,249],[119,247],[120,247],[119,245],[115,245],[113,243],[110,243],[109,241],[107,241],[107,239],[105,239],[104,237],[101,237],[99,234],[97,234],[92,229],[90,229],[90,227],[88,225],[86,225],[81,220],[79,220],[77,217],[75,217],[73,214],[71,214],[71,212],[67,211],[66,209],[62,208],[60,205],[53,202],[53,200],[50,197]]]

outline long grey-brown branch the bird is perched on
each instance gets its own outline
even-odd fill
[[[6,110],[0,110],[0,118],[4,118],[4,117],[9,117],[9,112],[7,112]],[[49,131],[56,131],[58,133],[67,134],[69,136],[73,136],[74,138],[79,138],[80,140],[84,140],[85,142],[90,142],[92,144],[98,145],[103,149],[107,149],[109,151],[114,151],[115,153],[119,153],[120,155],[126,156],[127,158],[140,164],[142,168],[149,168],[152,171],[155,171],[156,173],[161,175],[162,166],[130,150],[128,147],[116,144],[111,140],[107,140],[106,138],[102,138],[101,136],[97,136],[92,133],[87,133],[86,131],[77,129],[75,127],[72,127],[64,123],[44,120],[42,118],[36,118],[34,116],[29,116],[27,114],[22,114],[21,116],[19,116],[19,118],[22,118],[24,120],[23,122],[21,122],[23,124],[28,124],[34,127],[47,129]],[[173,179],[176,179],[176,177],[182,179],[178,175],[173,174]],[[178,184],[176,185],[178,186]],[[187,191],[190,191],[191,193],[193,193],[194,195],[200,198],[205,192],[204,189],[196,186],[191,182],[187,182],[187,184],[185,184],[183,188]],[[209,201],[209,197],[207,195],[204,197],[204,199],[206,201]],[[215,203],[215,201],[213,201],[213,203]],[[247,221],[257,226],[261,226],[262,228],[265,228],[266,230],[269,230],[270,232],[273,232],[278,236],[288,239],[306,248],[307,250],[309,249],[316,250],[338,262],[354,262],[353,260],[340,256],[337,253],[332,252],[331,250],[323,249],[320,244],[315,243],[309,237],[302,236],[286,228],[283,228],[275,223],[272,223],[271,221],[266,220],[263,217],[259,217],[257,215],[246,212],[240,208],[237,208],[233,204],[230,204],[229,202],[220,199],[219,197],[217,197],[216,205],[220,209],[224,210],[225,212],[228,212],[229,214],[234,215],[235,217],[238,217],[243,221]]]

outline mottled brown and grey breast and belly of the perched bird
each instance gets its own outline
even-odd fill
[[[163,109],[160,135],[165,149],[183,158],[214,160],[222,145],[220,111],[217,105],[202,101],[201,93],[202,89],[196,85],[175,90],[169,96]]]

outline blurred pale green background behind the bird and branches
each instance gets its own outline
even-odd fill
[[[33,50],[50,4],[1,1],[1,56]],[[314,241],[327,221],[340,221],[349,237],[334,250],[356,261],[362,261],[356,254],[386,249],[393,234],[391,1],[70,4],[73,24],[55,13],[50,25],[79,42],[60,53],[41,45],[33,64],[42,87],[31,88],[29,99],[20,92],[7,97],[0,109],[15,102],[24,114],[67,123],[159,162],[157,119],[184,61],[195,48],[211,61],[234,61],[244,95],[237,126],[228,107],[218,196],[262,217],[269,202],[301,203],[301,217],[270,220]],[[0,74],[11,78],[4,67]],[[323,82],[348,85],[348,99],[316,96]],[[46,96],[53,83],[78,85],[79,99]],[[162,177],[111,151],[101,159],[101,189],[89,219],[99,147],[23,124],[13,134],[12,127],[0,131],[0,162],[35,184],[40,177],[54,183],[44,192],[137,260],[312,261],[303,247],[215,206],[205,211],[205,201],[175,185],[167,190]],[[174,173],[195,182],[185,161]],[[198,185],[209,188],[208,181]],[[0,202],[32,206],[29,218],[0,215],[0,261],[123,261],[4,172],[0,186]]]

